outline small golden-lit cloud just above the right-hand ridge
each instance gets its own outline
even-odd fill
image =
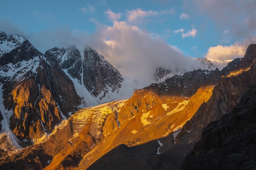
[[[243,57],[246,49],[247,46],[239,44],[233,44],[231,46],[218,45],[209,48],[206,58],[216,64],[219,69],[222,69],[233,59]]]

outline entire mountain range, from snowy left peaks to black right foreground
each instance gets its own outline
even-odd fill
[[[196,60],[137,89],[88,46],[43,54],[0,32],[0,167],[255,168],[256,45],[222,70]]]

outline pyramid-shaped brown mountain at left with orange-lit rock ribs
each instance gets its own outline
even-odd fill
[[[37,73],[28,71],[18,81],[7,79],[3,85],[3,109],[13,112],[10,129],[26,145],[51,132],[81,104],[74,85],[58,66],[47,66],[45,61],[39,65]]]

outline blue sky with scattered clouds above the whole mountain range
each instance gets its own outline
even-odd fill
[[[186,57],[207,57],[222,68],[256,43],[255,9],[255,0],[4,0],[0,30],[43,53],[89,45],[126,71]]]

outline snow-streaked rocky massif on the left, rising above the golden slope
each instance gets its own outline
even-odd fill
[[[24,37],[0,32],[0,139],[9,145],[3,146],[5,151],[51,133],[56,124],[88,105],[87,98],[90,104],[99,103],[109,90],[119,90],[119,72],[88,49],[83,57],[74,46],[52,48],[43,55]]]

